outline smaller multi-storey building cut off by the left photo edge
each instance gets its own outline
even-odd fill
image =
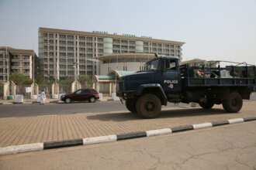
[[[36,53],[32,49],[13,49],[0,46],[0,81],[8,81],[12,73],[33,79]]]

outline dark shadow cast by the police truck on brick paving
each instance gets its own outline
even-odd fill
[[[163,110],[161,111],[161,116],[158,118],[168,118],[168,117],[193,117],[193,116],[205,116],[209,114],[227,114],[223,109],[212,109],[203,110],[200,108],[196,109],[182,109],[182,110]],[[140,119],[135,114],[131,113],[115,113],[115,114],[96,114],[87,117],[88,120],[99,120],[99,121],[131,121]]]

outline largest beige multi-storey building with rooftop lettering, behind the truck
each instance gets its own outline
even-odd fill
[[[108,32],[40,28],[38,34],[43,75],[57,80],[66,76],[99,74],[99,62],[96,59],[112,53],[158,53],[182,57],[184,44]]]

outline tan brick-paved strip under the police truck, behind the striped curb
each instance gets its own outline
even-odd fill
[[[251,117],[256,115],[255,104],[256,102],[244,103],[244,109],[239,114],[227,114],[220,106],[208,111],[198,108],[184,109],[178,106],[163,107],[164,111],[157,119],[140,119],[128,111],[0,118],[0,147]]]

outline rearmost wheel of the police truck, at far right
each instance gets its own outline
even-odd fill
[[[230,113],[237,113],[243,106],[243,99],[240,93],[230,93],[227,99],[223,100],[223,108]]]

